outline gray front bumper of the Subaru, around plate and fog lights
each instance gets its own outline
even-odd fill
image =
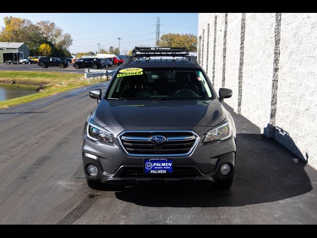
[[[173,160],[172,174],[151,175],[143,173],[143,161],[149,157],[129,156],[118,143],[91,141],[85,136],[82,150],[84,169],[88,164],[94,164],[99,169],[97,177],[89,177],[86,170],[85,176],[90,180],[112,184],[138,184],[147,181],[215,182],[231,179],[235,166],[235,136],[209,143],[202,143],[202,140],[203,138],[188,156],[161,157]],[[224,163],[232,166],[230,174],[226,177],[222,177],[218,172]]]

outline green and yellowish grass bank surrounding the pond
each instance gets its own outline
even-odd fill
[[[38,71],[0,71],[0,82],[32,84],[38,86],[38,93],[12,98],[0,102],[0,109],[31,102],[73,88],[88,85],[87,81],[76,73],[38,72]]]

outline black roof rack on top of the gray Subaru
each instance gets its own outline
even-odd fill
[[[132,51],[132,56],[128,56],[124,59],[123,65],[128,64],[133,58],[141,57],[185,57],[191,63],[199,65],[195,56],[189,56],[189,51],[186,47],[135,47]]]

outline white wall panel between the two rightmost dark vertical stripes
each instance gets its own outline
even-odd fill
[[[241,114],[258,125],[261,132],[269,123],[271,108],[274,16],[246,14]]]

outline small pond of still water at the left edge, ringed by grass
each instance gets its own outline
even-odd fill
[[[35,85],[0,83],[0,101],[37,93],[37,88]]]

